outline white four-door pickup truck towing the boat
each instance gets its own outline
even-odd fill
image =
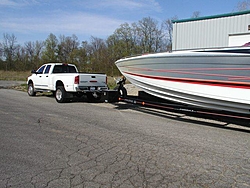
[[[31,73],[27,80],[29,96],[35,96],[36,92],[53,92],[59,103],[84,94],[98,101],[102,92],[108,90],[105,74],[78,73],[73,64],[48,63]]]

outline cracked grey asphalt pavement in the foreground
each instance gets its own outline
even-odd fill
[[[0,187],[250,187],[250,132],[0,89]]]

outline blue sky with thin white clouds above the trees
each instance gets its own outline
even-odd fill
[[[241,0],[0,0],[0,43],[14,34],[18,44],[45,41],[52,33],[107,39],[124,23],[151,17],[167,19],[227,14],[237,11]]]

